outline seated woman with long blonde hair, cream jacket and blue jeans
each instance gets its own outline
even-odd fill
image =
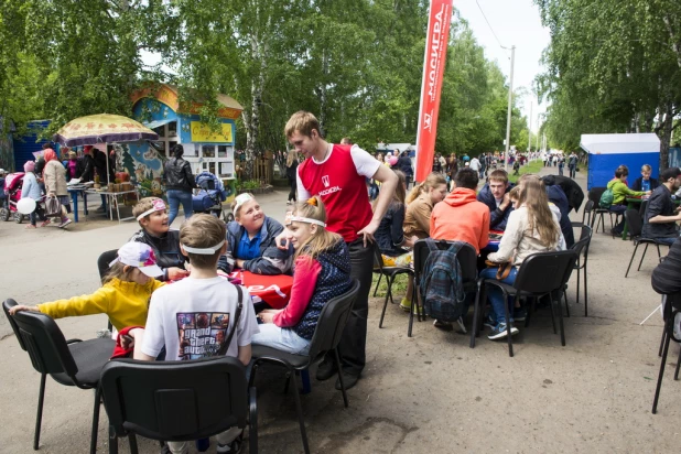
[[[561,244],[561,228],[555,213],[549,207],[549,198],[543,183],[539,179],[527,179],[521,182],[509,194],[514,210],[508,217],[508,224],[504,237],[499,242],[499,250],[490,253],[487,259],[497,263],[511,262],[514,266],[508,277],[501,282],[512,284],[516,281],[518,269],[522,261],[536,252],[547,252],[559,250]],[[480,272],[480,278],[496,279],[497,268],[487,268]],[[496,287],[487,289],[488,300],[491,311],[485,321],[491,327],[489,339],[500,339],[506,337],[506,324],[511,324],[511,335],[517,334],[518,329],[512,326],[514,318],[521,321],[522,311],[511,315],[511,320],[506,320],[504,309],[508,301],[505,301],[504,293]],[[514,314],[514,307],[509,307],[509,313]]]

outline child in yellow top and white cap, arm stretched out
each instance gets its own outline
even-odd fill
[[[164,285],[152,278],[158,273],[160,270],[151,248],[141,242],[127,242],[109,264],[104,285],[95,293],[36,306],[17,305],[10,313],[37,311],[52,318],[107,314],[118,331],[126,326],[144,326],[151,294]]]

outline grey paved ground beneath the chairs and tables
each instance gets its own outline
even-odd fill
[[[583,174],[577,181],[585,185]],[[281,218],[285,196],[281,191],[261,197],[266,212]],[[67,231],[26,231],[13,223],[0,224],[2,298],[35,303],[91,292],[98,285],[99,252],[122,245],[136,229],[132,223],[88,221]],[[371,300],[368,365],[349,391],[350,407],[343,408],[333,380],[313,379],[312,393],[303,398],[312,451],[678,452],[681,385],[671,380],[678,350],[671,350],[659,414],[651,415],[661,322],[652,317],[644,326],[639,323],[659,301],[650,289],[656,258],[649,253],[641,271],[625,280],[631,250],[628,241],[595,235],[588,260],[590,317],[583,316],[583,304],[574,302],[573,277],[568,346],[561,347],[543,311],[529,328],[521,328],[514,358],[502,343],[480,337],[469,349],[467,336],[439,332],[430,323],[417,324],[408,338],[407,316],[397,307],[388,307],[378,329],[382,300]],[[3,316],[0,323],[6,323]],[[106,318],[58,324],[67,338],[89,338]],[[39,376],[13,336],[0,346],[0,452],[30,452]],[[277,370],[266,370],[261,378],[261,451],[302,452],[292,396],[282,394]],[[91,397],[48,380],[42,453],[87,452]],[[105,426],[102,412],[102,452],[108,448]],[[140,447],[158,451],[148,441]]]

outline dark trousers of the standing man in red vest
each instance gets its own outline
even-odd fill
[[[348,242],[350,251],[350,278],[359,281],[359,293],[353,306],[353,312],[347,320],[343,337],[338,344],[340,354],[340,367],[346,374],[359,375],[366,363],[367,346],[367,317],[369,315],[369,291],[371,290],[371,278],[374,269],[374,245],[367,244],[364,247],[361,238]],[[333,364],[334,354],[329,352],[327,361]]]

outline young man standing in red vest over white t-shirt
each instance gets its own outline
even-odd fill
[[[398,177],[357,145],[326,142],[320,122],[310,112],[293,114],[284,133],[295,151],[305,155],[298,167],[298,194],[301,201],[318,195],[326,207],[326,228],[340,235],[350,251],[350,277],[359,280],[359,293],[338,345],[343,380],[349,389],[357,383],[366,363],[367,316],[374,268],[374,233],[388,209]],[[381,182],[374,213],[366,179]],[[283,238],[283,237],[282,237]],[[281,244],[278,238],[278,244]],[[333,353],[317,369],[316,378],[335,375]],[[340,382],[336,380],[336,389]]]

